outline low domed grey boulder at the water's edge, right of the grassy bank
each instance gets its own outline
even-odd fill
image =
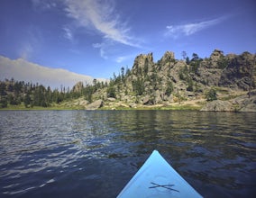
[[[232,112],[233,105],[228,101],[215,100],[206,105],[201,109],[203,112]]]

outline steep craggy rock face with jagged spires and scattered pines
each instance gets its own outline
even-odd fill
[[[105,104],[118,102],[134,106],[205,98],[212,87],[248,91],[250,87],[256,88],[255,58],[249,52],[224,56],[219,49],[209,58],[193,54],[193,58],[182,60],[167,51],[157,62],[152,53],[141,54],[134,59],[131,70],[114,77],[107,87],[97,89],[92,98],[93,101],[103,99]]]

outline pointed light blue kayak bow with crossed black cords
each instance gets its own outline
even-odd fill
[[[133,197],[202,197],[178,175],[157,150],[146,160],[117,198]]]

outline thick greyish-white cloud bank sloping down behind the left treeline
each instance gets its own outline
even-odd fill
[[[94,79],[92,76],[79,75],[61,68],[43,67],[23,58],[10,59],[3,56],[0,56],[0,71],[1,80],[14,77],[15,80],[32,81],[45,86],[50,85],[51,88],[59,88],[60,85],[72,88],[79,81],[91,84]]]

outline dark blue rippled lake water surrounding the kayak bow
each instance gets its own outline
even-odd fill
[[[205,197],[255,197],[256,113],[1,111],[0,197],[115,197],[153,149]]]

